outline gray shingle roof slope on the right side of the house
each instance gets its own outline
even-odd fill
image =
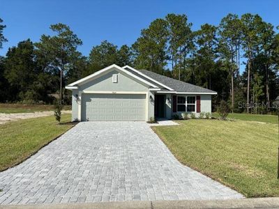
[[[170,77],[166,77],[164,75],[159,75],[155,72],[151,72],[149,70],[139,70],[144,75],[155,79],[156,81],[164,84],[165,86],[169,86],[169,88],[174,89],[177,92],[188,92],[188,93],[216,93],[216,91],[212,91],[207,88],[202,88],[200,86],[195,86],[193,84],[188,84],[186,82],[181,82],[176,79],[172,79]]]

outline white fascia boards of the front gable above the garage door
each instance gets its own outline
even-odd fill
[[[140,78],[140,77],[134,75],[133,73],[129,72],[128,70],[125,70],[124,68],[121,68],[121,67],[119,67],[119,65],[115,65],[115,64],[110,65],[110,66],[108,66],[107,68],[104,68],[104,69],[102,69],[102,70],[99,70],[99,71],[97,71],[97,72],[95,72],[95,73],[93,73],[93,74],[91,74],[91,75],[89,75],[89,76],[87,76],[87,77],[84,77],[83,79],[80,79],[80,80],[78,80],[78,81],[76,81],[76,82],[73,82],[72,84],[69,84],[68,86],[75,86],[75,85],[80,84],[80,83],[82,83],[82,82],[86,82],[86,80],[91,79],[91,78],[93,78],[93,77],[96,77],[96,76],[102,74],[103,72],[105,72],[105,71],[107,71],[107,70],[110,70],[110,69],[112,69],[112,68],[116,68],[116,69],[118,69],[118,70],[121,70],[122,72],[126,73],[127,75],[130,75],[131,77],[133,77],[133,78],[139,80],[140,82],[143,82],[144,84],[147,84],[147,85],[149,85],[149,86],[152,86],[153,88],[158,88],[158,86],[155,86],[154,84],[151,84],[150,82],[147,82],[146,80],[144,80],[144,79],[142,79],[142,78]]]

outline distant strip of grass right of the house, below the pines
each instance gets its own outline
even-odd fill
[[[218,117],[218,113],[213,113],[213,117]],[[240,121],[257,121],[262,123],[278,124],[278,116],[255,115],[255,114],[229,114],[228,118]]]

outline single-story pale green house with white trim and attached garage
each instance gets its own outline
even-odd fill
[[[211,112],[211,95],[217,94],[128,65],[110,65],[66,89],[73,95],[73,121],[149,121],[185,112],[198,115]]]

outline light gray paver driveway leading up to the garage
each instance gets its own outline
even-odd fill
[[[243,197],[180,164],[144,122],[79,123],[1,172],[0,188],[1,204]]]

